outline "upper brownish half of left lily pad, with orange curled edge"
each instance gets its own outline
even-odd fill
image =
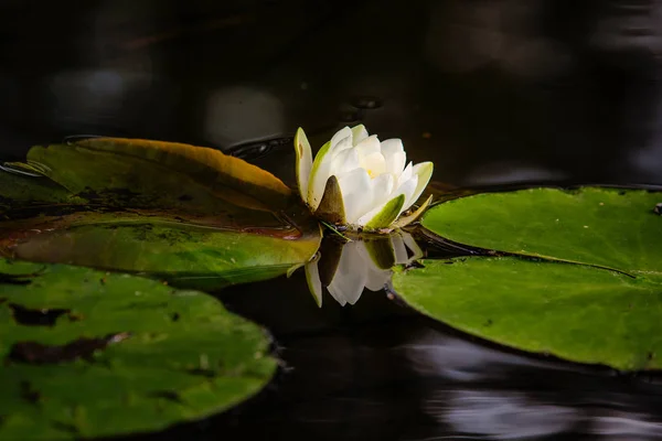
[[[89,138],[36,146],[26,163],[7,165],[43,174],[73,194],[121,196],[124,205],[209,211],[224,201],[270,211],[286,207],[291,197],[282,181],[258,166],[218,150],[175,142]]]

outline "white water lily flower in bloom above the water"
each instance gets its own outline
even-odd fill
[[[399,139],[380,142],[362,125],[338,131],[314,162],[299,128],[295,150],[299,193],[322,220],[352,229],[389,229],[414,222],[431,202],[430,196],[415,213],[398,219],[427,186],[433,163],[406,164]]]

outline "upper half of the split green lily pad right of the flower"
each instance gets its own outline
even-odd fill
[[[480,248],[662,273],[661,193],[583,187],[482,193],[430,208],[421,224],[447,239]]]

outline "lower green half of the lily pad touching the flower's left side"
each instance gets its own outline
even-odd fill
[[[0,222],[0,255],[137,272],[213,290],[278,277],[305,263],[321,240],[317,224],[308,228],[243,232],[164,214],[83,212]]]

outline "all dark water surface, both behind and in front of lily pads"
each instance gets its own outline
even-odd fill
[[[293,182],[288,137],[363,122],[455,185],[662,184],[656,0],[0,2],[0,157],[75,133],[215,147]],[[662,438],[662,385],[517,354],[302,271],[217,293],[284,365],[136,440]]]

